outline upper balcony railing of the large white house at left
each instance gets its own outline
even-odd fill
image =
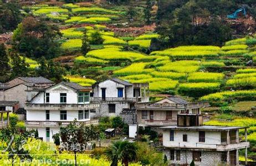
[[[99,103],[68,104],[68,103],[27,103],[25,110],[90,110],[99,108]]]

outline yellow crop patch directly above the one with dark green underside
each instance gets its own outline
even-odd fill
[[[224,74],[216,72],[193,72],[188,75],[188,82],[220,82]]]

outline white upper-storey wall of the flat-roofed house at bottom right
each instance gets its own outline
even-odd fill
[[[187,142],[183,142],[183,134],[187,134]],[[205,147],[212,148],[221,144],[221,132],[206,131],[205,142],[199,142],[199,131],[174,131],[174,141],[170,141],[170,129],[163,131],[165,147]]]

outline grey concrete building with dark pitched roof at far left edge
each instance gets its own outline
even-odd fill
[[[24,108],[39,90],[54,85],[53,81],[44,77],[17,77],[6,84],[0,84],[1,101],[18,101],[19,108]]]

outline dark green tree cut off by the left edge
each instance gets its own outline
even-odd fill
[[[5,82],[8,79],[7,73],[11,69],[9,66],[9,57],[6,52],[6,46],[2,43],[0,44],[0,81]]]

